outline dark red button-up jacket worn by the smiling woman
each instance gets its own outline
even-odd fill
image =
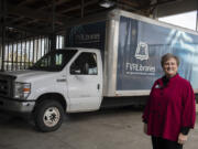
[[[182,127],[194,128],[196,100],[188,81],[178,74],[166,86],[157,79],[151,91],[143,120],[147,135],[177,141]]]

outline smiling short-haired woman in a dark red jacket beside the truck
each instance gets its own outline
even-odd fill
[[[195,126],[195,95],[188,81],[177,73],[179,60],[167,53],[161,61],[165,75],[151,91],[143,121],[153,149],[182,149]]]

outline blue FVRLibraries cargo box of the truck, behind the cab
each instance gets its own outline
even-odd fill
[[[184,28],[112,10],[70,23],[66,46],[100,49],[103,60],[103,96],[148,95],[162,77],[161,56],[180,60],[178,73],[198,92],[198,33]]]

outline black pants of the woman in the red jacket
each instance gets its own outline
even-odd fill
[[[176,141],[170,141],[163,139],[161,137],[152,136],[153,149],[183,149],[183,145],[179,145]]]

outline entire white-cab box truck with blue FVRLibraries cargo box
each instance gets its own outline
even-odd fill
[[[142,104],[163,75],[161,56],[180,58],[179,74],[198,92],[198,33],[112,10],[66,29],[66,49],[25,71],[0,73],[0,109],[33,115],[41,131],[59,128],[64,111]]]

